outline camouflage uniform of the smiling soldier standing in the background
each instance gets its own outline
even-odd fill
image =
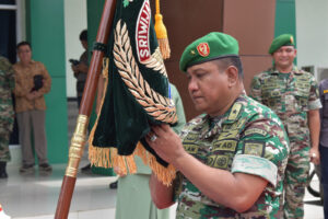
[[[273,110],[289,135],[291,152],[285,170],[284,217],[303,218],[311,160],[307,112],[321,107],[318,85],[311,73],[295,67],[291,73],[271,68],[254,77],[250,96]]]

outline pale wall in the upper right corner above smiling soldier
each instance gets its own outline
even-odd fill
[[[328,68],[328,1],[295,0],[297,66]]]

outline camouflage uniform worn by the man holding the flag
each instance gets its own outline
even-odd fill
[[[204,196],[178,174],[176,218],[280,218],[279,198],[288,161],[288,137],[278,116],[268,107],[241,95],[221,117],[200,115],[189,122],[181,139],[185,150],[209,166],[242,172],[269,183],[247,211],[237,211]]]

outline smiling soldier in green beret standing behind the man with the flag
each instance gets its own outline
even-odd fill
[[[293,65],[296,49],[292,35],[274,38],[269,54],[274,65],[254,77],[250,96],[274,111],[289,135],[291,152],[284,178],[284,218],[303,218],[309,162],[319,163],[318,85],[311,73]]]

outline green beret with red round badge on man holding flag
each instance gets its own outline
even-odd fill
[[[238,56],[238,42],[224,33],[211,32],[188,45],[180,58],[180,70],[213,59]]]

